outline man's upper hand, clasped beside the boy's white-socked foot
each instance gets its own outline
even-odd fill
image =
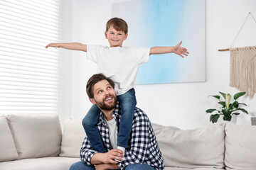
[[[105,156],[102,157],[102,162],[104,164],[117,164],[114,159],[122,162],[123,152],[120,149],[111,149],[109,152],[105,153]]]

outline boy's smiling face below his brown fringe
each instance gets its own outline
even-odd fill
[[[122,43],[127,39],[128,34],[123,31],[117,31],[110,26],[110,29],[105,32],[105,37],[110,42],[110,47],[122,47]]]

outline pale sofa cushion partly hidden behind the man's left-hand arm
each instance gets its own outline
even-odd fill
[[[80,149],[85,138],[82,120],[68,118],[65,120],[60,157],[80,157]]]

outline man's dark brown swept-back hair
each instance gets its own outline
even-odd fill
[[[94,98],[93,86],[97,84],[97,82],[102,80],[107,80],[112,86],[112,88],[114,89],[114,81],[112,81],[112,79],[105,77],[105,75],[102,73],[94,74],[92,75],[92,77],[90,77],[90,79],[87,81],[87,84],[86,84],[86,93],[89,96],[89,98]]]

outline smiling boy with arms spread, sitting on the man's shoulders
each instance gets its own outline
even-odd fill
[[[132,128],[134,108],[137,104],[134,91],[134,80],[139,69],[139,64],[149,61],[149,55],[166,54],[174,52],[181,57],[187,56],[186,48],[181,47],[181,42],[175,47],[123,47],[122,43],[127,39],[128,26],[121,18],[111,18],[107,21],[105,37],[110,47],[102,45],[84,45],[73,43],[50,43],[47,47],[62,47],[68,50],[82,50],[87,52],[87,58],[97,63],[97,72],[110,77],[115,83],[117,99],[121,107],[121,121],[117,145],[112,144],[115,149],[124,152]],[[101,91],[98,91],[100,93]],[[112,96],[106,95],[104,101],[112,100]],[[107,108],[104,108],[107,110]],[[100,140],[100,134],[96,128],[100,109],[93,105],[82,120],[82,125],[90,141],[90,145],[97,152],[107,152],[106,147]]]

